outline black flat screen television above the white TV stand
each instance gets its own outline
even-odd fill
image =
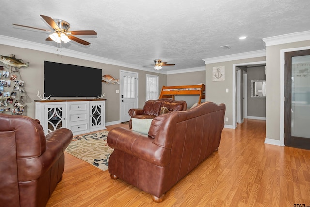
[[[44,96],[101,96],[102,70],[44,61]]]

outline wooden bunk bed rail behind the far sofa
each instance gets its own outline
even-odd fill
[[[199,95],[198,104],[205,99],[205,85],[181,85],[181,86],[163,86],[160,92],[160,98],[172,98],[175,95]]]

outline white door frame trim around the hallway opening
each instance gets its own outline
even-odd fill
[[[236,128],[236,70],[238,66],[266,64],[266,61],[233,64],[233,127]]]

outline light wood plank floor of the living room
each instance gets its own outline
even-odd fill
[[[265,121],[225,129],[214,152],[166,193],[162,203],[109,171],[65,154],[65,170],[47,207],[310,206],[310,150],[264,144]],[[119,124],[108,126],[128,127]]]

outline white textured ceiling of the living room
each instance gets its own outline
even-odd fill
[[[141,68],[154,59],[176,64],[166,71],[203,67],[206,58],[265,49],[262,38],[310,30],[310,0],[1,0],[0,35],[57,47],[45,41],[48,32],[12,25],[51,29],[40,15],[97,32],[77,36],[89,46],[58,47]]]

